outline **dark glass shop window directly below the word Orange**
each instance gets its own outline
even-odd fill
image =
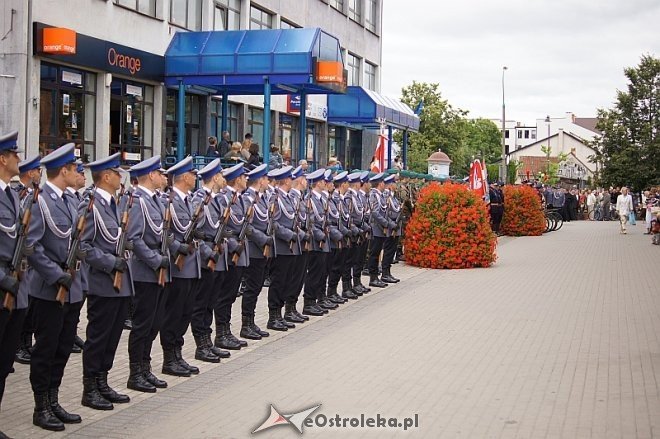
[[[110,153],[122,153],[124,163],[153,155],[153,87],[113,79],[110,85]]]

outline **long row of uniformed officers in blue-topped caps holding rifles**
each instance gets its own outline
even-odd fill
[[[269,336],[254,319],[266,273],[272,331],[399,282],[391,266],[405,209],[395,175],[243,162],[223,169],[220,158],[197,172],[191,157],[164,170],[155,156],[132,166],[132,187],[122,188],[117,153],[84,165],[93,181],[85,189],[74,144],[20,163],[18,153],[17,133],[0,137],[0,402],[27,333],[32,422],[43,429],[82,421],[58,395],[84,303],[81,404],[112,410],[130,402],[108,384],[129,309],[127,387],[153,393],[167,387],[151,367],[157,337],[162,374],[191,376],[199,368],[182,354],[188,330],[195,359],[211,363]]]

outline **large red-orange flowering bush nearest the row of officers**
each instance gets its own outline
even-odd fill
[[[496,259],[486,205],[460,184],[424,187],[405,236],[406,263],[418,267],[488,267]]]

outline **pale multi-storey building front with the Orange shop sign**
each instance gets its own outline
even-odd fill
[[[204,154],[208,136],[221,137],[221,97],[189,88],[179,132],[178,93],[163,85],[176,32],[320,27],[341,43],[348,85],[380,88],[382,0],[5,0],[0,12],[0,126],[19,130],[28,156],[73,141],[86,161],[120,151],[130,164],[172,154],[179,136],[186,153]],[[53,28],[75,33],[75,54],[62,44],[66,36],[52,43]],[[230,138],[249,132],[268,147],[263,97],[228,101]],[[337,156],[360,166],[375,148],[372,133],[328,124],[327,98],[315,95],[306,108],[307,153],[298,157],[295,96],[274,96],[271,111],[271,141],[291,162],[322,166]]]

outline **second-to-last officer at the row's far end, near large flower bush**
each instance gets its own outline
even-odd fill
[[[385,190],[384,178],[385,174],[381,172],[369,179],[369,182],[371,183],[369,206],[371,208],[371,230],[373,233],[369,252],[369,286],[377,288],[384,288],[387,286],[387,284],[378,277],[378,259],[383,250],[385,240],[388,237],[386,232],[395,227],[394,222],[386,216],[387,199],[383,194],[383,191]]]

